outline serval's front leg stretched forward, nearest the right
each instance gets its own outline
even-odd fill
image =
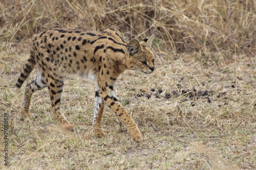
[[[110,83],[110,84],[109,84]],[[113,93],[113,82],[106,82],[104,84],[100,84],[99,94],[101,99],[104,101],[106,105],[110,107],[110,109],[116,113],[118,118],[121,120],[123,125],[126,127],[130,136],[136,141],[141,142],[141,133],[139,131],[138,126],[135,124],[132,116],[126,112],[126,110],[121,106],[121,104],[116,99]],[[112,85],[111,85],[112,84]]]

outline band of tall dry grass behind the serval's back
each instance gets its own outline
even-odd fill
[[[254,0],[0,2],[1,41],[20,42],[48,28],[102,31],[115,27],[127,38],[158,37],[160,52],[236,51],[255,55]]]

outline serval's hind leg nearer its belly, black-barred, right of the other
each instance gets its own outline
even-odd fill
[[[68,122],[66,116],[61,113],[60,103],[61,103],[61,94],[64,82],[63,80],[59,80],[54,78],[53,76],[48,75],[49,81],[47,82],[47,86],[49,89],[49,93],[51,96],[51,104],[52,104],[52,112],[54,117],[58,120],[58,123],[62,128],[70,129],[74,126]]]

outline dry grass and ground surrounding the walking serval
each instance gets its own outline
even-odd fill
[[[9,166],[0,169],[255,169],[255,11],[255,0],[0,1],[0,105],[9,114]],[[108,108],[107,136],[92,136],[94,83],[76,78],[62,101],[74,132],[58,128],[47,90],[20,121],[24,86],[14,84],[33,34],[49,28],[155,34],[154,74],[125,71],[115,88],[141,144]]]

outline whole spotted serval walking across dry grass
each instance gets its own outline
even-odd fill
[[[49,29],[35,35],[31,55],[16,83],[20,88],[34,66],[37,66],[36,78],[26,85],[22,117],[30,116],[32,93],[48,87],[55,118],[61,126],[73,127],[60,111],[61,94],[65,79],[79,75],[96,82],[94,135],[105,135],[101,129],[101,117],[104,105],[107,105],[124,124],[130,136],[136,142],[141,142],[138,126],[118,102],[113,89],[118,76],[126,69],[140,70],[146,74],[154,71],[154,54],[150,50],[153,37],[127,42],[114,29],[104,32]]]

